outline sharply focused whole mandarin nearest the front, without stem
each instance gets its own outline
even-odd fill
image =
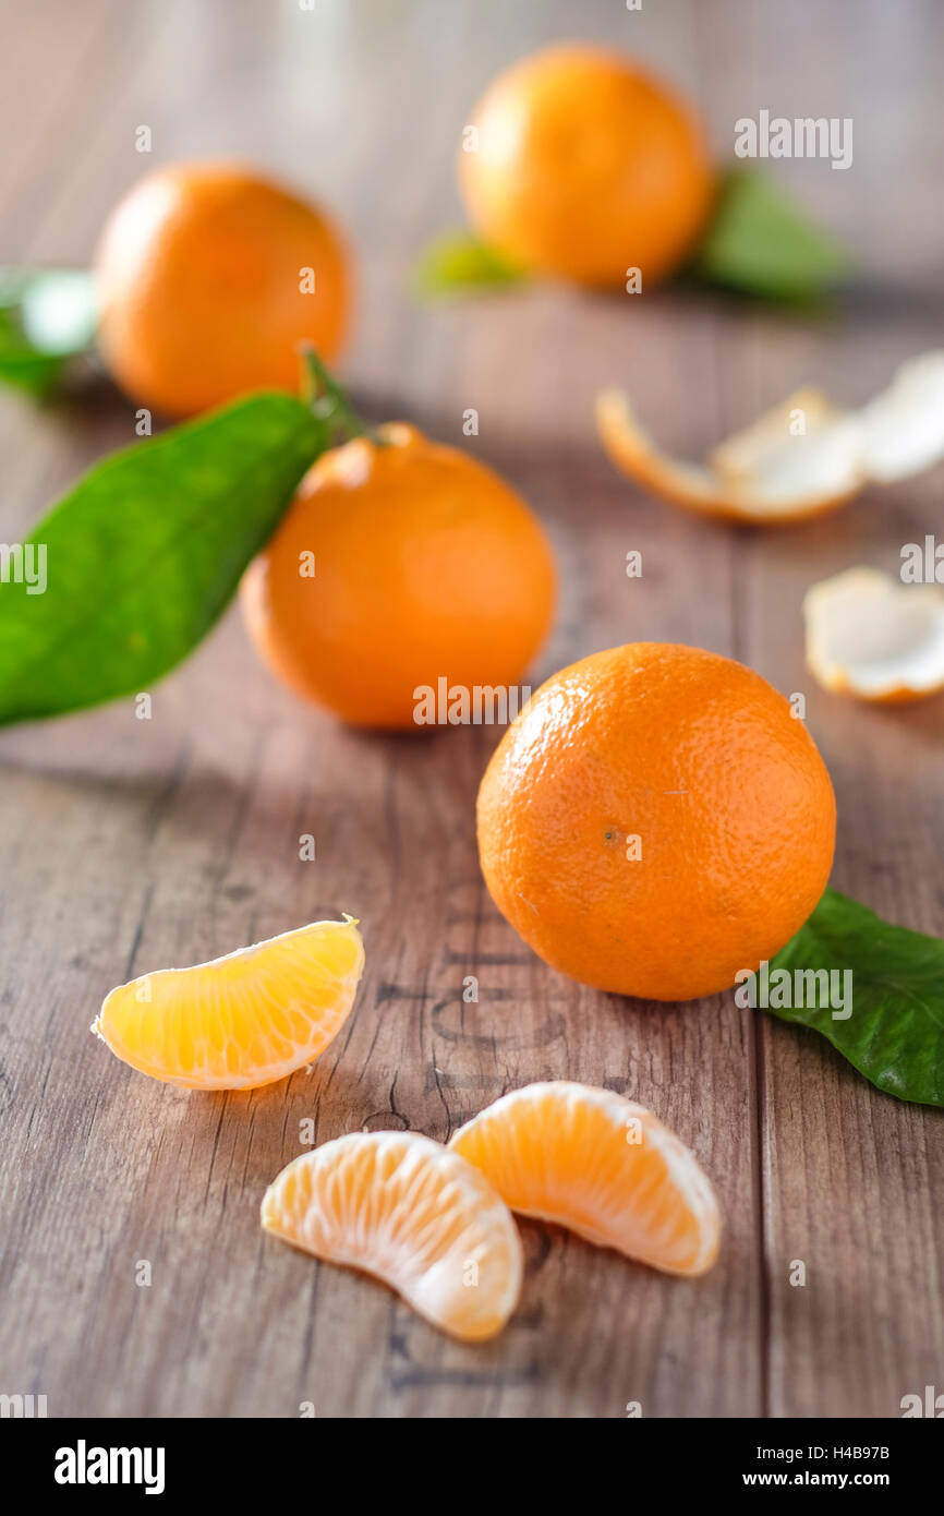
[[[688,1001],[803,925],[836,811],[803,722],[761,675],[633,643],[556,673],[479,790],[489,893],[541,958],[618,994]]]

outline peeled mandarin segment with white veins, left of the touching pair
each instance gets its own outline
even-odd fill
[[[262,1225],[315,1258],[364,1269],[465,1342],[502,1331],[521,1293],[521,1239],[485,1176],[418,1132],[353,1132],[270,1184]]]

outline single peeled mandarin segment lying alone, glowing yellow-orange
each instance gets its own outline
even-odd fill
[[[252,1090],[311,1063],[347,1020],[364,972],[353,917],[312,922],[106,996],[92,1031],[117,1058],[188,1090]]]

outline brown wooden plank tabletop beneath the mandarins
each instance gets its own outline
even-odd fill
[[[876,711],[821,693],[800,600],[850,564],[894,570],[938,526],[944,475],[794,531],[702,525],[612,473],[591,402],[624,382],[695,455],[799,382],[859,402],[941,344],[942,23],[933,0],[9,3],[0,261],[86,262],[117,196],[174,156],[242,155],[321,196],[358,249],[358,400],[474,449],[555,535],[564,605],[535,675],[655,638],[803,691],[839,802],[833,882],[939,934],[941,702]],[[477,91],[574,32],[694,91],[726,156],[733,121],[762,106],[853,117],[852,170],[777,174],[855,247],[859,293],[820,321],[542,287],[417,303],[417,250],[461,220],[453,153]],[[462,438],[468,406],[477,438]],[[3,396],[0,537],[130,440],[132,409],[108,390],[47,411]],[[641,579],[626,578],[630,549]],[[124,702],[0,738],[2,1392],[45,1393],[52,1416],[297,1416],[311,1401],[318,1416],[570,1417],[638,1401],[645,1416],[879,1417],[944,1390],[941,1113],[879,1095],[814,1034],[732,994],[627,1002],[533,958],[476,861],[494,729],[345,731],[268,679],[236,614],[153,694],[150,722]],[[315,863],[299,860],[302,832]],[[189,1095],[88,1035],[127,976],[342,910],[364,922],[367,976],[311,1075]],[[462,1002],[468,973],[479,1005]],[[305,1117],[318,1142],[362,1126],[445,1139],[502,1092],[561,1076],[630,1093],[695,1149],[726,1216],[708,1278],[526,1223],[521,1308],[468,1348],[259,1231]]]

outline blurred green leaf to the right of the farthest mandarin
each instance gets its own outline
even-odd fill
[[[767,174],[732,171],[689,273],[779,300],[815,300],[852,273],[852,258]]]

